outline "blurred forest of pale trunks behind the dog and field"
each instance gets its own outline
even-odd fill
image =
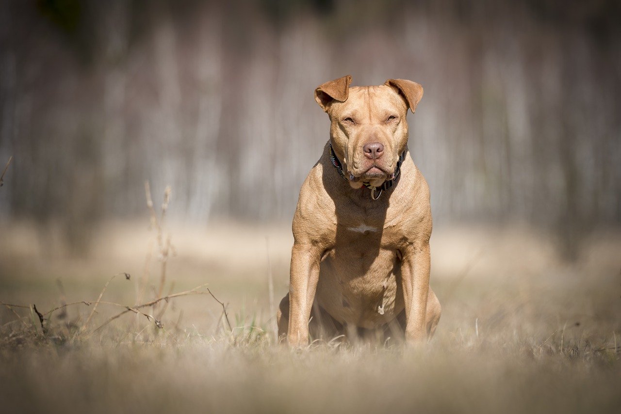
[[[291,220],[329,138],[320,83],[419,82],[435,223],[519,222],[571,257],[621,224],[618,1],[4,0],[0,221]]]

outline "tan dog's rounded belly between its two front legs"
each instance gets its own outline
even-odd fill
[[[404,308],[396,251],[379,237],[351,235],[322,259],[315,297],[340,323],[377,328]]]

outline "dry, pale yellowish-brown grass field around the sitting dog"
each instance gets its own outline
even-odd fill
[[[158,243],[141,223],[106,223],[87,259],[70,258],[55,232],[0,226],[0,302],[25,306],[0,310],[2,412],[621,410],[619,232],[585,239],[569,264],[524,228],[437,228],[443,314],[430,344],[291,352],[274,343],[272,318],[288,290],[288,224],[168,228],[163,295],[207,283],[232,331],[210,294],[161,300],[95,331],[127,310],[119,305],[158,295]],[[45,333],[30,308],[82,300],[48,315]]]

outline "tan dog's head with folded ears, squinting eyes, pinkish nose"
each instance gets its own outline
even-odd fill
[[[423,88],[405,79],[381,86],[354,86],[351,76],[321,84],[315,101],[330,117],[330,138],[353,188],[391,179],[407,144],[407,109],[416,109]]]

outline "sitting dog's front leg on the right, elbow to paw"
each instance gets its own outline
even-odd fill
[[[401,284],[406,306],[406,343],[427,340],[425,317],[429,294],[431,256],[429,243],[407,245],[401,252]]]

